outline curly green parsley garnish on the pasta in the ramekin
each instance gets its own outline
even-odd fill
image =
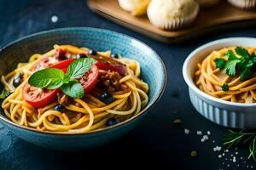
[[[219,69],[225,69],[225,73],[231,77],[239,75],[241,82],[253,77],[256,66],[256,55],[249,54],[245,48],[237,47],[234,53],[229,50],[224,54],[224,58],[214,59],[215,65]]]

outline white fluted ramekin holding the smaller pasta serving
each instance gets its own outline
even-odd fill
[[[196,48],[183,64],[183,78],[189,86],[191,103],[202,116],[224,127],[256,129],[256,104],[239,104],[214,98],[197,88],[193,81],[197,63],[213,50],[230,46],[256,47],[256,38],[225,38]]]

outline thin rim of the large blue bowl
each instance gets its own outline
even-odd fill
[[[0,53],[2,53],[5,48],[9,48],[12,45],[15,45],[15,43],[18,43],[20,41],[25,41],[27,38],[38,37],[40,35],[44,35],[44,34],[47,34],[47,33],[52,33],[52,32],[55,32],[55,31],[60,31],[61,32],[61,31],[75,31],[75,30],[81,30],[81,31],[83,31],[83,30],[84,31],[103,31],[105,33],[109,32],[109,33],[115,34],[115,35],[117,35],[119,37],[125,37],[125,38],[128,38],[128,39],[135,40],[135,41],[141,43],[146,48],[151,49],[153,54],[156,56],[156,58],[160,60],[160,64],[161,64],[161,66],[162,66],[162,68],[164,70],[163,71],[164,72],[163,83],[161,84],[160,91],[156,94],[156,98],[153,99],[152,103],[150,105],[147,105],[145,108],[143,108],[143,110],[140,111],[136,116],[132,116],[130,119],[125,120],[124,122],[119,122],[118,124],[113,125],[111,127],[106,127],[106,128],[102,128],[102,129],[96,129],[96,130],[92,130],[92,131],[88,131],[88,132],[84,132],[84,133],[38,131],[37,129],[34,129],[32,127],[24,127],[24,126],[20,126],[19,124],[16,124],[15,122],[11,122],[8,118],[4,117],[2,114],[0,114],[0,121],[6,122],[6,123],[8,123],[11,126],[15,126],[15,127],[18,127],[18,128],[24,129],[24,130],[31,131],[32,133],[41,133],[41,134],[49,134],[49,135],[60,135],[60,136],[62,136],[62,135],[75,136],[75,135],[81,135],[81,134],[96,134],[96,133],[107,132],[107,131],[110,131],[110,130],[122,127],[125,124],[128,124],[130,122],[133,122],[133,121],[137,120],[137,118],[143,116],[145,114],[145,112],[149,111],[159,101],[161,96],[164,94],[164,91],[165,91],[165,88],[166,88],[166,82],[167,82],[167,71],[166,71],[165,63],[160,58],[159,54],[157,54],[154,51],[153,48],[150,48],[148,46],[148,44],[138,40],[135,37],[131,37],[131,36],[125,35],[123,33],[117,32],[117,31],[110,31],[110,30],[107,30],[107,29],[94,28],[94,27],[86,27],[86,26],[63,27],[63,28],[57,28],[57,29],[50,29],[50,30],[46,30],[46,31],[39,31],[39,32],[36,32],[36,33],[32,33],[30,35],[27,35],[25,37],[20,37],[20,38],[16,39],[15,41],[12,41],[12,42],[9,42],[9,43],[3,45],[3,48],[0,48]]]

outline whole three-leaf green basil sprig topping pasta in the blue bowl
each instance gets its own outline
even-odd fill
[[[28,79],[28,83],[37,88],[61,88],[64,94],[72,98],[82,98],[84,88],[77,79],[83,77],[95,63],[96,60],[91,58],[77,59],[67,67],[66,74],[59,69],[46,68],[34,72]]]

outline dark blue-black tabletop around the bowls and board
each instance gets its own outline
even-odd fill
[[[51,22],[52,15],[58,16],[56,23]],[[253,161],[247,160],[246,148],[230,150],[225,156],[218,158],[224,151],[214,152],[213,147],[221,144],[227,129],[207,121],[195,111],[190,104],[188,89],[182,77],[183,61],[192,50],[223,37],[255,37],[255,27],[214,32],[176,45],[164,44],[93,14],[85,0],[0,0],[1,47],[18,37],[34,32],[69,26],[90,26],[118,31],[147,43],[166,64],[168,81],[165,94],[150,111],[149,116],[131,133],[96,150],[46,150],[16,138],[0,125],[1,170],[76,167],[218,170],[256,167]],[[182,120],[179,127],[173,124],[176,118]],[[188,128],[190,133],[184,134],[184,128]],[[211,131],[209,140],[201,143],[201,136],[196,134],[197,130],[203,133]],[[191,157],[192,150],[196,150],[198,156]],[[231,154],[236,155],[235,163],[230,161]]]

